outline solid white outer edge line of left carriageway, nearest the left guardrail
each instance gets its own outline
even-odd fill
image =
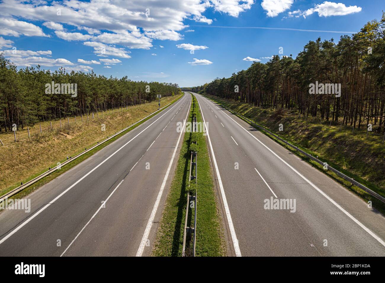
[[[179,100],[179,102],[182,101],[182,98],[181,100]],[[174,106],[172,106],[167,112],[171,111],[172,108],[174,108],[176,105],[179,104],[179,102],[177,102],[177,104],[175,104]],[[72,186],[70,186],[68,189],[66,189],[65,191],[63,191],[62,193],[59,194],[59,196],[57,196],[56,198],[52,199],[52,201],[50,201],[49,203],[47,203],[45,206],[43,206],[42,208],[39,209],[39,211],[37,211],[37,213],[33,214],[32,216],[30,216],[30,218],[28,218],[27,220],[25,220],[22,224],[20,224],[19,226],[17,226],[17,228],[13,229],[9,234],[7,234],[7,236],[5,236],[4,238],[2,238],[0,240],[0,244],[4,243],[5,240],[7,240],[10,236],[12,236],[13,234],[15,234],[17,231],[19,231],[21,228],[23,228],[26,224],[28,224],[33,218],[35,218],[36,216],[38,216],[40,213],[42,213],[46,208],[48,208],[51,204],[55,203],[55,201],[57,201],[60,197],[62,197],[65,193],[67,193],[70,189],[74,188],[74,186],[76,186],[80,181],[82,181],[85,177],[87,177],[89,174],[91,174],[92,172],[94,172],[97,168],[99,168],[99,166],[101,166],[104,162],[106,162],[108,159],[110,159],[112,156],[114,156],[117,152],[119,152],[123,147],[125,147],[127,144],[129,144],[133,139],[135,139],[137,136],[139,136],[142,132],[146,131],[146,129],[148,129],[150,126],[152,126],[152,124],[154,124],[156,121],[158,121],[159,119],[161,119],[164,115],[167,114],[167,112],[165,112],[161,117],[159,117],[158,119],[156,119],[154,122],[152,122],[149,126],[147,126],[145,129],[143,129],[141,132],[139,132],[139,134],[137,134],[135,137],[133,137],[131,140],[129,140],[128,142],[126,142],[123,146],[121,146],[119,149],[117,149],[114,153],[112,153],[109,157],[107,157],[106,159],[104,159],[104,161],[100,162],[96,167],[94,167],[94,169],[92,169],[91,171],[89,171],[87,174],[85,174],[82,178],[80,178],[79,180],[77,180],[74,184],[72,184]]]

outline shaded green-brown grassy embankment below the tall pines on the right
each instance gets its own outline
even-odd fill
[[[300,147],[308,154],[318,156],[321,161],[328,163],[346,176],[385,196],[385,145],[382,143],[382,136],[371,132],[367,136],[365,127],[363,130],[355,129],[352,133],[352,127],[341,127],[340,124],[333,123],[330,126],[330,122],[321,122],[319,117],[298,118],[298,113],[294,111],[285,110],[280,112],[272,109],[262,109],[247,103],[235,102],[234,100],[221,99],[212,95],[205,96],[251,119],[268,131]],[[283,124],[284,131],[279,131],[279,124]],[[373,126],[373,129],[375,128]],[[261,132],[285,146],[365,201],[372,201],[373,207],[385,213],[385,205],[381,201],[339,177],[334,172],[325,171],[323,166],[295,151],[267,132]]]

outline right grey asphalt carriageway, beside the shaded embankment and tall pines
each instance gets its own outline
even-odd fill
[[[231,255],[385,256],[382,214],[248,123],[194,95],[208,124]],[[274,209],[265,199],[288,199],[295,206]]]

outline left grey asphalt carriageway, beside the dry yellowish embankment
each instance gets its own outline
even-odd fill
[[[30,213],[0,213],[0,256],[146,256],[172,181],[191,95],[45,184]]]

